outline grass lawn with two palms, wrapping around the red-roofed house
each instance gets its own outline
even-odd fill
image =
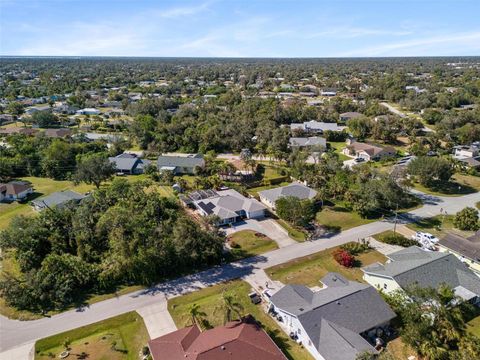
[[[260,305],[253,305],[250,302],[248,293],[251,291],[251,286],[241,280],[229,281],[168,300],[168,311],[172,315],[177,327],[180,329],[191,325],[188,309],[192,304],[197,304],[200,307],[200,311],[206,314],[205,320],[210,326],[223,325],[222,292],[224,290],[231,293],[235,301],[242,306],[243,314],[251,314],[262,324],[265,331],[289,359],[312,359],[308,351],[290,340],[276,322],[263,311]]]

